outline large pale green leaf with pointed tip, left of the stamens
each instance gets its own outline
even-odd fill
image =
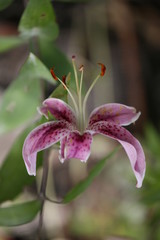
[[[1,101],[0,134],[27,123],[35,116],[41,102],[40,78],[55,83],[49,70],[31,53]]]

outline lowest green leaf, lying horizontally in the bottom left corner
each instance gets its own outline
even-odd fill
[[[0,226],[18,226],[31,222],[40,211],[38,200],[0,208]]]

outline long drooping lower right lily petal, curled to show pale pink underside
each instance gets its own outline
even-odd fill
[[[145,156],[139,141],[132,136],[130,132],[128,132],[125,128],[116,125],[112,122],[101,121],[93,124],[90,127],[91,133],[100,133],[110,138],[118,140],[124,150],[126,151],[132,170],[137,179],[137,187],[140,188],[142,186],[143,178],[145,175]]]

